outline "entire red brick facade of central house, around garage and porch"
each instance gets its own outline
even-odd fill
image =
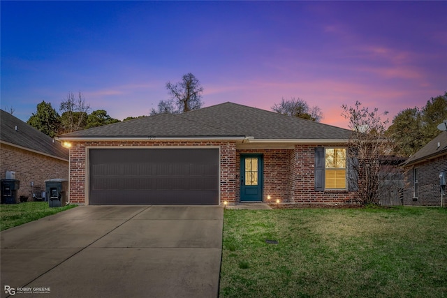
[[[301,203],[343,203],[351,200],[348,191],[314,191],[314,147],[295,149],[236,149],[228,141],[90,141],[72,142],[70,201],[86,204],[87,148],[94,147],[220,147],[220,201],[240,201],[240,154],[263,154],[263,201]]]

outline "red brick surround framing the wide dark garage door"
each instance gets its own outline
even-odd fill
[[[220,198],[221,202],[235,202],[236,198],[236,144],[227,141],[91,141],[72,142],[70,151],[70,201],[77,204],[86,204],[86,164],[87,148],[94,147],[220,147]]]

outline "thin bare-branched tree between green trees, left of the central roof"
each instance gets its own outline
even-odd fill
[[[81,92],[79,92],[78,97],[73,92],[69,92],[66,100],[61,102],[59,110],[62,112],[59,133],[80,131],[87,125],[90,106],[85,103],[85,98]]]

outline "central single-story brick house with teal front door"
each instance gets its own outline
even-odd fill
[[[235,103],[67,133],[79,204],[344,203],[351,131]],[[347,162],[348,161],[348,162]]]

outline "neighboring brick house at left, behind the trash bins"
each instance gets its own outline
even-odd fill
[[[46,179],[68,179],[68,149],[12,114],[0,112],[0,177],[15,172],[20,180],[17,199],[24,196],[31,201],[33,193],[41,197]]]

